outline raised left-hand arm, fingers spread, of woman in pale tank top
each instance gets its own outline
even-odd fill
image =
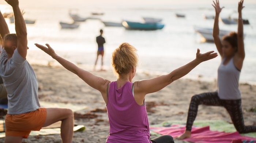
[[[216,2],[213,1],[214,4],[212,6],[215,8],[215,19],[214,19],[214,27],[213,27],[213,39],[214,43],[218,49],[219,54],[222,57],[222,43],[221,39],[219,38],[219,13],[221,13],[222,8],[219,6],[219,0],[216,0]]]

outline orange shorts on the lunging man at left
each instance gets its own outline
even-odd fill
[[[27,138],[31,131],[39,131],[46,120],[46,108],[5,116],[5,136],[23,136]]]

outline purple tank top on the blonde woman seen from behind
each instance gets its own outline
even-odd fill
[[[106,107],[109,117],[106,143],[151,143],[146,105],[136,103],[131,82],[118,89],[116,82],[109,83]]]

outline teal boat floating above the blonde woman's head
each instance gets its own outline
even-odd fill
[[[165,26],[161,23],[140,23],[140,22],[131,22],[131,21],[123,21],[123,26],[126,29],[134,29],[134,30],[157,30],[163,29]]]

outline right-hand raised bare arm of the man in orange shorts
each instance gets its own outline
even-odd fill
[[[18,0],[5,0],[8,4],[12,6],[14,12],[15,20],[15,31],[18,37],[18,52],[19,54],[26,59],[27,56],[27,28],[26,23],[23,19],[22,12],[19,8]]]

